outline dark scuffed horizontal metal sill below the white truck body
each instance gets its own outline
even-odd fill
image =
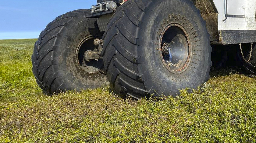
[[[220,43],[223,45],[256,42],[256,30],[221,30]]]

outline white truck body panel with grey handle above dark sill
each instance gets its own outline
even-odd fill
[[[213,2],[219,13],[219,31],[256,30],[256,0],[213,0]],[[229,16],[226,20],[225,15]]]

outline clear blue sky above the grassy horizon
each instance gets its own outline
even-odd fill
[[[96,0],[1,0],[0,39],[38,38],[57,16],[89,9]]]

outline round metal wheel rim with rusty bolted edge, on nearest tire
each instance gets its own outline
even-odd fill
[[[159,51],[165,67],[174,74],[184,72],[191,59],[191,43],[187,31],[174,22],[167,25],[159,39]]]

